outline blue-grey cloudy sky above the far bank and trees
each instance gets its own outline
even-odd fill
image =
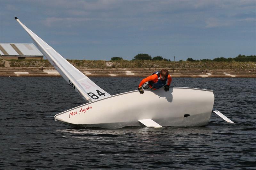
[[[14,17],[66,59],[256,54],[256,0],[0,0],[1,43],[33,43]]]

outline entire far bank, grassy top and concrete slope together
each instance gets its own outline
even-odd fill
[[[69,60],[88,77],[146,77],[162,68],[172,77],[256,78],[256,62],[166,60]],[[48,60],[1,60],[0,76],[60,76]]]

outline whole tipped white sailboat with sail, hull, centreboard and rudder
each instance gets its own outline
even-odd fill
[[[212,114],[214,95],[212,90],[172,87],[137,90],[111,96],[92,80],[77,70],[51,46],[29,30],[15,17],[27,31],[39,50],[68,84],[87,101],[86,104],[69,109],[54,116],[58,122],[72,127],[122,128],[125,126],[203,126]],[[232,122],[218,110],[227,122]]]

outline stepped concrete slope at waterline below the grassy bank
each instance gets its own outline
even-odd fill
[[[147,77],[162,68],[88,68],[78,67],[88,77]],[[167,68],[168,69],[168,68]],[[254,69],[169,69],[172,77],[232,77],[256,78]],[[60,74],[54,67],[0,67],[0,76],[42,76],[58,77]]]

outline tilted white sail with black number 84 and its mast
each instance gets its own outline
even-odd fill
[[[58,52],[56,52],[51,46],[39,38],[35,33],[29,30],[20,20],[15,17],[20,25],[27,31],[29,36],[35,42],[39,50],[49,60],[53,67],[60,73],[60,75],[71,85],[76,92],[88,102],[100,100],[111,96],[98,85],[92,82],[81,71],[77,70],[72,64],[70,64],[65,58],[63,58]]]

